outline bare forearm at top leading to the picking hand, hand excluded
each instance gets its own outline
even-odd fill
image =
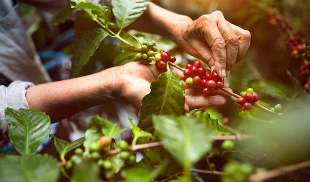
[[[178,26],[192,21],[190,17],[173,13],[151,2],[144,14],[129,28],[174,39]]]

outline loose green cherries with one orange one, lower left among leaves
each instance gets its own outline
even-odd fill
[[[112,169],[113,165],[111,161],[102,159],[101,151],[109,150],[111,139],[107,136],[100,137],[99,140],[94,141],[90,144],[90,155],[86,156],[89,159],[97,161],[99,166],[102,166],[105,170]],[[130,165],[136,162],[136,157],[131,155],[129,152],[129,145],[125,140],[119,140],[117,143],[117,148],[121,149],[119,153],[119,157],[124,160],[128,161]],[[65,169],[69,170],[72,168],[73,163],[77,164],[78,161],[81,160],[83,156],[84,150],[81,148],[75,149],[75,155],[72,155],[70,160],[64,164]]]

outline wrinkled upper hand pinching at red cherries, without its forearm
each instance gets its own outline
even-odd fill
[[[173,30],[172,38],[180,47],[222,78],[245,56],[251,39],[248,31],[228,22],[220,11],[194,21],[185,18],[176,22]]]

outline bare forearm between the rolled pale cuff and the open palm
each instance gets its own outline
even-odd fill
[[[31,86],[26,93],[32,109],[43,111],[52,121],[59,121],[86,108],[116,100],[118,84],[114,68],[53,83]],[[114,83],[115,82],[115,83]]]

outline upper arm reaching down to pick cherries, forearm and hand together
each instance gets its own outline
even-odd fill
[[[226,21],[219,11],[193,21],[152,2],[131,28],[170,37],[221,77],[228,76],[233,66],[245,56],[251,38],[248,31]]]

